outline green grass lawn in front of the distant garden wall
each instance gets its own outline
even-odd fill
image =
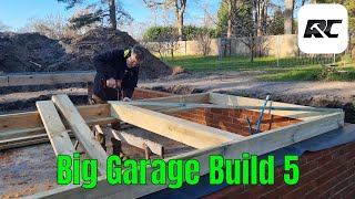
[[[323,63],[332,63],[332,59],[281,59],[280,67],[275,57],[257,57],[251,62],[248,57],[223,57],[219,56],[176,56],[166,60],[170,66],[181,66],[189,71],[212,72],[221,70],[246,70],[264,71],[265,74],[257,76],[260,80],[270,81],[353,81],[355,80],[355,64],[328,67]],[[341,71],[341,72],[338,72]]]

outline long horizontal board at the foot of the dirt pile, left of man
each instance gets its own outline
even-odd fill
[[[95,72],[64,72],[51,74],[13,74],[9,75],[7,86],[20,85],[53,85],[63,83],[91,82],[94,80]],[[3,85],[1,85],[3,86]]]

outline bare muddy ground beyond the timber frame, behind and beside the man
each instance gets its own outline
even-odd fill
[[[139,82],[139,87],[175,94],[216,92],[253,98],[314,107],[339,107],[346,112],[346,122],[353,123],[355,116],[355,82],[273,82],[260,81],[255,76],[261,71],[216,71],[210,73],[182,73],[155,80]],[[1,88],[8,90],[8,88]],[[7,92],[0,94],[0,113],[34,111],[34,102],[49,98],[52,94],[65,93],[77,104],[85,103],[85,87],[37,90],[34,92]]]

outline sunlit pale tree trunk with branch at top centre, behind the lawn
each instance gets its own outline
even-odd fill
[[[176,28],[179,39],[183,38],[184,13],[186,10],[186,0],[143,0],[148,8],[162,7],[163,9],[172,9],[175,13]]]

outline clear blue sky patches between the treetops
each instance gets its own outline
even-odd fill
[[[87,3],[98,2],[99,0],[87,0]],[[142,0],[121,0],[123,8],[136,22],[153,20],[150,9],[143,6]],[[221,0],[210,0],[210,8],[217,9]],[[190,4],[189,4],[190,3]],[[199,8],[199,0],[187,1],[185,13],[186,23],[196,23],[202,18],[202,10]],[[31,18],[45,18],[49,14],[60,14],[70,17],[78,8],[67,10],[64,3],[57,0],[2,0],[0,7],[0,21],[13,30],[24,27]],[[171,14],[173,17],[173,14]],[[161,20],[161,19],[159,19]]]

